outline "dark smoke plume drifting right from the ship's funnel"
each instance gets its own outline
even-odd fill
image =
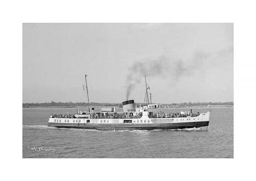
[[[172,60],[165,56],[161,56],[156,60],[145,59],[135,62],[129,67],[129,73],[126,77],[126,100],[128,100],[134,87],[141,83],[145,75],[149,78],[168,79],[175,86],[183,76],[192,75],[193,72],[199,69],[201,71],[210,56],[210,54],[204,52],[196,52],[191,60],[186,61],[189,64],[184,63],[183,60]]]

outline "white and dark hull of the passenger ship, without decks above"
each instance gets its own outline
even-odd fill
[[[184,129],[208,126],[210,112],[180,118],[49,118],[48,126],[97,130]]]

